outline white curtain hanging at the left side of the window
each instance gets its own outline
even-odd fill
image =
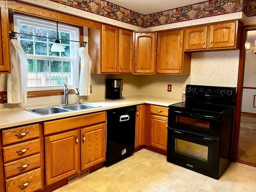
[[[7,102],[26,103],[28,86],[28,60],[20,42],[10,40],[11,73],[7,75]]]

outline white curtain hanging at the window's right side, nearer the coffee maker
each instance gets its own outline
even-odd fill
[[[81,58],[78,92],[80,96],[89,96],[91,94],[92,60],[85,47],[80,47],[78,52]]]

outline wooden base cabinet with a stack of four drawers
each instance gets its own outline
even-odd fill
[[[43,189],[40,124],[0,131],[0,191],[34,192]]]

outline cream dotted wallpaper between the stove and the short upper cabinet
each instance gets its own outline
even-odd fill
[[[191,84],[236,87],[239,50],[192,53]]]

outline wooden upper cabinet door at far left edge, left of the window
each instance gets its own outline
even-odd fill
[[[9,20],[8,12],[5,13],[6,9],[0,8],[0,73],[10,73],[10,45],[9,45]]]

